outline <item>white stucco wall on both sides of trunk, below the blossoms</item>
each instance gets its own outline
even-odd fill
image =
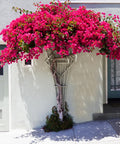
[[[16,89],[12,91],[12,125],[17,128],[44,125],[56,105],[53,77],[45,58],[42,54],[39,60],[33,60],[32,67],[19,62],[12,69],[12,88]],[[66,101],[74,122],[92,120],[93,113],[102,112],[102,56],[79,54],[67,78]]]

